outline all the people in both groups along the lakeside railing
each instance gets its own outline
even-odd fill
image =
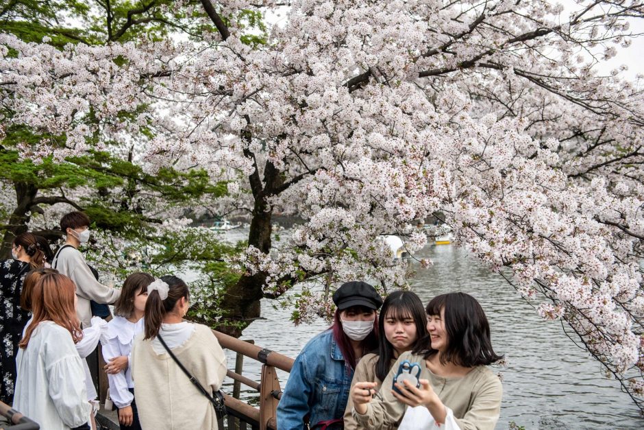
[[[226,360],[207,326],[184,320],[188,286],[141,272],[121,289],[102,285],[78,251],[89,224],[69,213],[55,255],[46,240],[23,233],[13,259],[0,262],[1,400],[42,429],[95,428],[86,357],[100,342],[121,429],[216,429],[204,392],[219,390]],[[413,292],[393,291],[383,302],[371,285],[352,281],[333,300],[334,324],[295,360],[278,429],[495,427],[502,389],[488,365],[501,357],[474,298],[443,294],[423,307]],[[113,303],[114,318],[92,317],[92,301]]]

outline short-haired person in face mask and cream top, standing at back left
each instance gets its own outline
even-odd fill
[[[76,313],[82,327],[91,326],[92,309],[90,300],[101,304],[112,304],[121,295],[121,291],[99,283],[92,270],[78,250],[82,243],[90,238],[90,219],[82,212],[70,212],[60,219],[60,228],[66,234],[66,241],[56,252],[51,267],[61,274],[69,276],[76,284],[78,304]]]

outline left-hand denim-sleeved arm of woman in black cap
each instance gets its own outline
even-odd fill
[[[313,395],[313,381],[308,370],[305,348],[295,359],[277,404],[277,428],[280,430],[301,430],[304,427],[304,417],[310,412]]]

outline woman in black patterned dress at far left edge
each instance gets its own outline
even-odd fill
[[[0,261],[0,400],[13,401],[16,353],[29,314],[20,307],[23,280],[29,270],[42,267],[45,255],[32,233],[16,236],[11,246],[13,259]]]

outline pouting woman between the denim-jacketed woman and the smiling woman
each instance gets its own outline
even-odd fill
[[[412,291],[393,291],[389,294],[380,309],[378,332],[380,339],[377,353],[367,354],[360,359],[351,387],[358,381],[374,382],[374,389],[380,390],[382,381],[402,353],[425,349],[427,316],[421,299]],[[344,417],[345,430],[366,429],[351,416],[353,407],[354,403],[349,396]]]

